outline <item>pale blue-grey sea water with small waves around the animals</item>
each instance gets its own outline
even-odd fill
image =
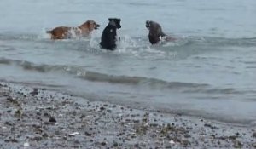
[[[255,125],[255,14],[255,0],[2,0],[0,81]],[[121,18],[115,51],[98,44],[108,17]],[[91,37],[45,33],[86,20],[101,25]],[[146,20],[178,40],[150,45]]]

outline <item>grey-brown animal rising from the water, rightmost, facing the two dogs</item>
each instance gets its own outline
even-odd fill
[[[174,37],[167,36],[163,31],[160,24],[152,20],[146,21],[146,27],[149,30],[148,39],[151,44],[160,43],[161,41],[171,42],[177,40]]]

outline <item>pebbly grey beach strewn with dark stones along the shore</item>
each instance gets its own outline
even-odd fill
[[[256,128],[0,83],[0,148],[256,148]]]

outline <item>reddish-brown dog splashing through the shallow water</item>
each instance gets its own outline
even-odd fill
[[[47,31],[47,33],[51,34],[51,39],[70,39],[72,37],[88,37],[90,32],[98,29],[100,25],[96,23],[94,20],[87,20],[78,27],[67,27],[67,26],[59,26],[55,27],[51,31]]]

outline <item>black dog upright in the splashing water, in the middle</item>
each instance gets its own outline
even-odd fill
[[[116,48],[116,29],[121,28],[120,19],[118,18],[108,18],[108,26],[102,32],[102,49],[114,50]]]

